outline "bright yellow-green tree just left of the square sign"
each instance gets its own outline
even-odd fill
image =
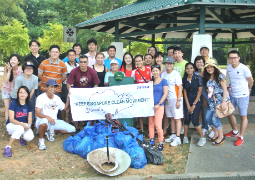
[[[41,43],[41,50],[48,51],[50,46],[59,45],[61,52],[69,49],[69,43],[63,42],[63,25],[49,23],[49,30],[43,30],[43,36],[38,41]]]

